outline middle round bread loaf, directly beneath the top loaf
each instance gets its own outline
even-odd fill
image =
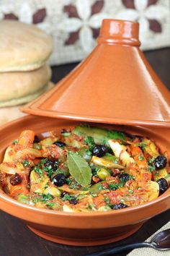
[[[0,73],[0,107],[16,106],[37,98],[47,90],[51,69],[44,65],[30,72]]]

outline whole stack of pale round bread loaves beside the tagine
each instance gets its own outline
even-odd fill
[[[50,35],[22,22],[0,21],[0,125],[24,114],[21,104],[52,87],[45,64],[53,51]]]

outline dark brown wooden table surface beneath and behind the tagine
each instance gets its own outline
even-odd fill
[[[161,80],[170,90],[170,48],[145,52],[146,58]],[[76,64],[53,67],[53,82],[58,82]],[[99,249],[107,249],[128,242],[144,241],[169,221],[170,210],[148,220],[143,227],[128,239],[98,247],[71,247],[48,242],[36,236],[17,218],[0,212],[0,256],[81,256]],[[117,254],[127,255],[128,252]]]

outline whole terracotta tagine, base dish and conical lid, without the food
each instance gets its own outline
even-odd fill
[[[94,51],[55,88],[22,108],[36,116],[28,115],[0,128],[0,161],[6,147],[24,129],[43,136],[46,131],[59,132],[84,121],[148,136],[170,155],[170,95],[139,49],[138,26],[137,22],[104,20]],[[138,207],[66,213],[24,205],[0,189],[1,210],[22,219],[43,238],[71,245],[124,239],[169,205],[170,188]]]

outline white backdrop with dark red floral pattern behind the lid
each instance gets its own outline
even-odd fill
[[[50,64],[84,59],[105,18],[140,23],[141,48],[170,46],[169,0],[0,0],[0,20],[33,23],[53,36]]]

